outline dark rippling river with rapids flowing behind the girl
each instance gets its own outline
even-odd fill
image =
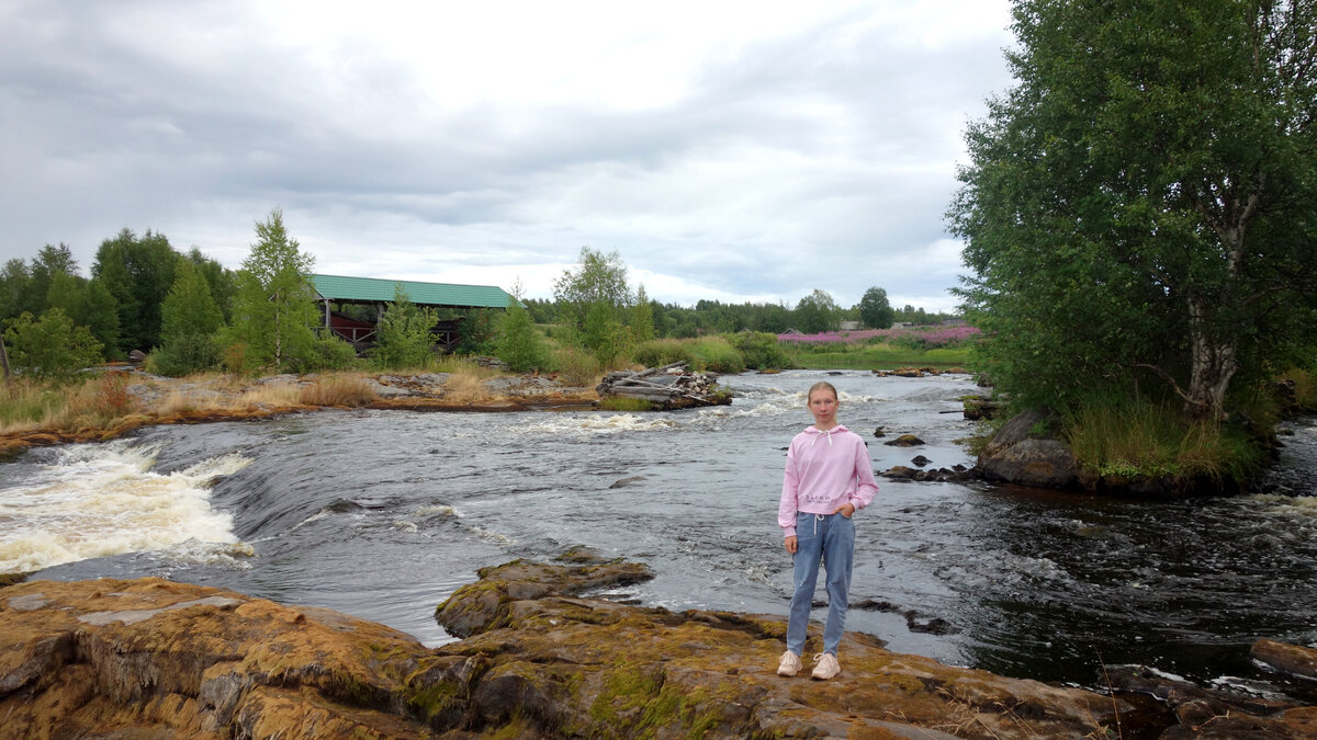
[[[329,411],[154,427],[0,465],[0,571],[159,575],[437,645],[452,637],[435,606],[478,568],[583,544],[657,573],[615,598],[785,614],[781,470],[820,378],[876,470],[917,454],[972,463],[957,440],[975,425],[954,413],[977,391],[967,375],[744,374],[722,379],[731,406],[669,413]],[[878,427],[927,444],[886,446]],[[1100,687],[1102,665],[1142,664],[1317,700],[1247,654],[1259,637],[1317,645],[1317,425],[1288,427],[1276,475],[1297,495],[1146,502],[880,478],[856,519],[847,628],[1006,675]]]

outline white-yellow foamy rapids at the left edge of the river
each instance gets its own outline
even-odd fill
[[[250,460],[227,454],[153,473],[159,445],[74,445],[0,489],[0,573],[132,552],[209,561],[234,550],[233,517],[209,503],[209,483]],[[216,548],[215,545],[221,545]]]

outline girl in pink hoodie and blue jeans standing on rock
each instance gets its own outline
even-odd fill
[[[832,383],[814,383],[806,398],[814,425],[795,435],[786,450],[782,500],[777,507],[777,524],[786,537],[786,552],[792,553],[795,564],[786,652],[777,665],[777,674],[795,675],[801,670],[810,603],[822,558],[827,579],[827,624],[823,628],[823,652],[815,656],[811,675],[826,681],[842,672],[836,647],[846,628],[851,590],[855,552],[851,516],[873,500],[878,483],[873,479],[873,465],[864,440],[836,421],[838,398]]]

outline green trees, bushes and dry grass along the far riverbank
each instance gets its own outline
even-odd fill
[[[839,308],[818,288],[793,309],[716,302],[682,308],[649,300],[644,286],[632,291],[620,257],[589,248],[581,250],[578,265],[564,271],[552,303],[523,299],[514,287],[506,311],[454,316],[449,309],[416,305],[399,287],[375,321],[377,341],[358,357],[352,345],[317,328],[321,315],[306,278],[315,261],[288,233],[282,213],[271,211],[255,224],[255,233],[237,271],[195,249],[174,251],[163,234],[138,237],[128,229],[101,244],[90,279],[78,274],[65,245],[43,248],[30,265],[11,259],[0,271],[5,288],[0,361],[11,381],[0,432],[80,435],[119,428],[115,419],[144,410],[115,402],[115,381],[88,379],[86,369],[129,357],[150,374],[184,378],[225,399],[198,400],[198,394],[155,399],[154,417],[233,415],[244,403],[266,411],[360,404],[366,399],[360,383],[324,378],[435,371],[454,357],[460,363],[461,358],[495,356],[512,373],[552,373],[577,387],[593,387],[614,369],[676,361],[701,371],[740,373],[831,362],[884,369],[964,359],[964,350],[955,357],[938,354],[947,349],[950,334],[939,332],[946,316],[910,305],[893,309],[882,288],[871,288],[851,309]],[[844,323],[853,325],[851,316],[884,325],[893,320],[923,325],[838,333]],[[456,346],[446,356],[435,352],[435,327],[441,319],[458,327]],[[793,321],[814,333],[802,333]],[[3,354],[7,346],[9,353]],[[313,373],[317,379],[299,392],[233,392],[232,386],[250,378],[282,373]],[[453,375],[454,398],[482,398],[479,374],[469,381],[471,375]],[[466,390],[458,387],[464,384]]]

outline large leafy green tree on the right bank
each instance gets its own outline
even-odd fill
[[[1064,404],[1139,369],[1218,419],[1241,370],[1310,340],[1317,0],[1021,0],[1014,18],[1017,86],[969,126],[950,211],[993,375]]]

